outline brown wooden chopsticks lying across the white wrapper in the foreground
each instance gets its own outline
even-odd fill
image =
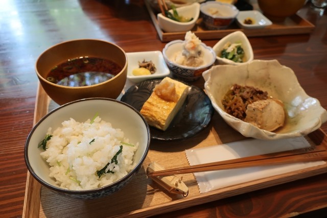
[[[317,160],[327,160],[327,151],[324,146],[315,146],[311,147],[310,149],[296,149],[286,152],[276,152],[266,155],[256,155],[213,163],[164,169],[162,171],[148,172],[147,174],[148,176],[170,176],[176,174],[217,171],[221,169],[308,162]]]

